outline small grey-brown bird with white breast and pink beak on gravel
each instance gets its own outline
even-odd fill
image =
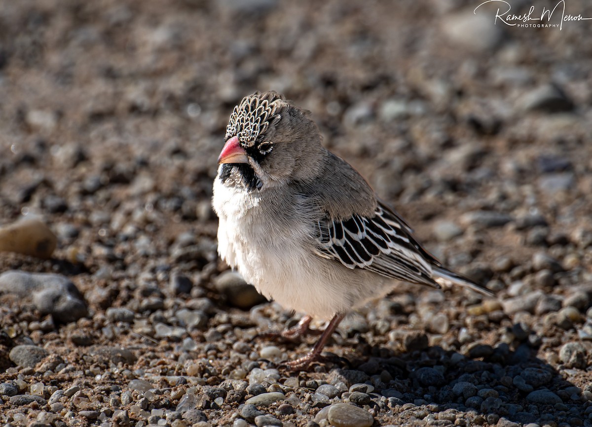
[[[265,297],[305,314],[280,335],[296,338],[313,317],[330,319],[314,348],[285,364],[290,370],[323,359],[343,317],[388,294],[393,279],[491,294],[442,267],[321,139],[310,112],[277,92],[255,92],[230,115],[214,181],[220,257]]]

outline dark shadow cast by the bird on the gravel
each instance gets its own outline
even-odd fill
[[[491,423],[486,417],[495,414],[523,425],[587,425],[588,405],[581,398],[585,390],[536,357],[536,348],[527,343],[514,349],[505,344],[482,345],[481,351],[482,357],[469,358],[428,346],[392,355],[387,346],[362,342],[356,348],[359,356],[325,353],[326,363],[318,365],[317,371],[331,375],[337,369],[336,375],[356,378],[356,383],[374,383],[369,394],[388,397],[388,407],[382,410],[392,413],[408,409],[407,403],[435,403],[437,412],[454,409],[471,418],[481,415],[485,423]]]

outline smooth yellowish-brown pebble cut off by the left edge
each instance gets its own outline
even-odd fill
[[[37,258],[51,258],[57,237],[40,220],[23,219],[0,227],[0,252],[16,252]]]

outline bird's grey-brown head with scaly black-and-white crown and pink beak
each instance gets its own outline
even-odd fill
[[[240,173],[259,189],[313,179],[324,149],[309,114],[277,92],[244,97],[226,127],[222,172]]]

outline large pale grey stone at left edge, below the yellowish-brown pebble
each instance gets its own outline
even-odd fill
[[[31,298],[41,314],[52,314],[60,323],[74,322],[88,314],[76,285],[59,274],[6,271],[0,274],[0,294]]]

